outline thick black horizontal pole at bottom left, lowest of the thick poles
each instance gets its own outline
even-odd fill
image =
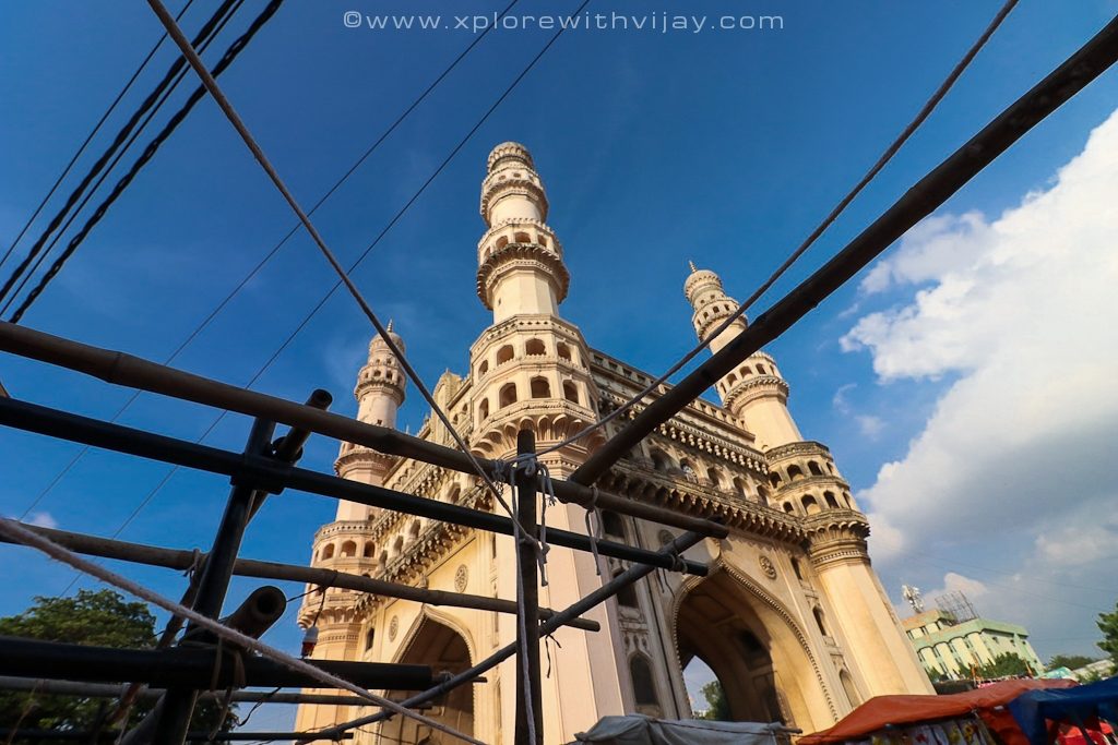
[[[320,681],[302,672],[253,655],[241,655],[244,679],[238,680],[234,655],[227,649],[221,652],[184,647],[114,649],[0,636],[0,675],[79,682],[144,682],[198,690],[230,686],[322,687]],[[432,669],[420,665],[306,661],[364,688],[423,690],[436,681]]]

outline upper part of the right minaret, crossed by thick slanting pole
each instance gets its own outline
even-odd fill
[[[699,269],[691,262],[691,275],[683,284],[683,293],[694,308],[691,323],[700,340],[705,341],[738,308],[738,302],[722,289],[722,280],[710,269]],[[746,329],[746,318],[740,316],[722,333],[711,340],[711,352],[718,352]],[[757,437],[762,449],[803,437],[788,412],[788,383],[777,370],[776,362],[764,352],[755,352],[738,369],[727,374],[716,385],[723,405],[746,424]]]

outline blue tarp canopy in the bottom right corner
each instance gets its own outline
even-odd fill
[[[1045,745],[1048,719],[1087,726],[1100,718],[1118,722],[1118,678],[1067,690],[1029,691],[1010,701],[1008,708],[1030,745]]]

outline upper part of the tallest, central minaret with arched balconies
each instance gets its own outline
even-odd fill
[[[489,229],[477,242],[477,297],[493,311],[493,325],[471,348],[472,409],[475,431],[485,433],[479,450],[503,458],[515,451],[525,416],[540,447],[593,421],[597,390],[582,333],[559,316],[570,274],[523,145],[505,142],[490,153],[481,212]]]

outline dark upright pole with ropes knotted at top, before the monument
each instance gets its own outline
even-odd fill
[[[536,434],[522,429],[517,434],[517,455],[536,453]],[[522,622],[517,630],[521,634],[520,655],[517,659],[517,742],[540,745],[543,742],[543,693],[540,684],[540,585],[537,567],[539,529],[536,524],[536,499],[539,493],[539,471],[534,459],[518,465],[515,470],[517,515],[520,523]],[[536,734],[536,742],[529,734],[529,709]]]

